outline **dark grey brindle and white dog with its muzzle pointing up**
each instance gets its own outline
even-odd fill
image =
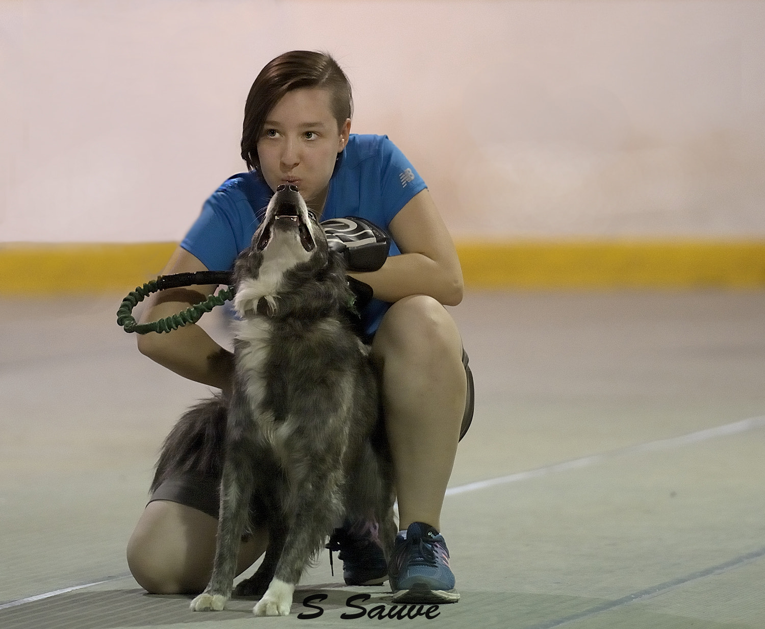
[[[368,347],[347,317],[353,293],[343,260],[296,187],[278,187],[236,259],[234,282],[233,394],[227,405],[207,402],[210,413],[227,407],[217,548],[210,583],[191,609],[223,609],[252,517],[268,527],[269,547],[236,594],[265,591],[252,611],[283,616],[344,519],[379,523],[389,558],[392,471]]]

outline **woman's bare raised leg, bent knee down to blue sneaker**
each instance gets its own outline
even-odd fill
[[[467,389],[457,325],[435,299],[403,298],[382,319],[372,355],[382,370],[399,529],[424,522],[441,530]]]

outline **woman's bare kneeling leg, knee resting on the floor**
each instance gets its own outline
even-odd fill
[[[133,577],[151,594],[202,592],[213,572],[218,521],[200,510],[169,500],[146,505],[128,543]],[[249,568],[268,545],[265,529],[239,547],[236,574]]]

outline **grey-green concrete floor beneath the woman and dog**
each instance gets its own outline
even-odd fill
[[[138,354],[121,298],[0,301],[0,627],[373,622],[340,614],[386,588],[341,587],[326,553],[288,618],[194,614],[132,580],[157,448],[207,387]],[[765,627],[765,293],[473,292],[451,311],[477,386],[442,520],[462,600],[403,624]],[[298,619],[313,592],[324,614]]]

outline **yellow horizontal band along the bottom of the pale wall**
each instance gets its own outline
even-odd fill
[[[128,292],[176,243],[0,244],[0,294]],[[458,243],[468,288],[765,287],[765,240]]]

